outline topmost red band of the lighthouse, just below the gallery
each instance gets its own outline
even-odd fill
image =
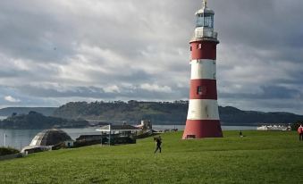
[[[191,42],[191,58],[193,60],[198,59],[216,59],[216,45],[214,41],[198,41]]]

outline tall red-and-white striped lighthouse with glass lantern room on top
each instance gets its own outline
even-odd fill
[[[214,31],[214,15],[204,0],[202,9],[196,13],[196,29],[189,41],[189,111],[183,139],[223,137],[216,90],[216,45],[219,41]]]

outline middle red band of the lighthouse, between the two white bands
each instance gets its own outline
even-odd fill
[[[191,79],[189,99],[217,99],[215,79]]]

